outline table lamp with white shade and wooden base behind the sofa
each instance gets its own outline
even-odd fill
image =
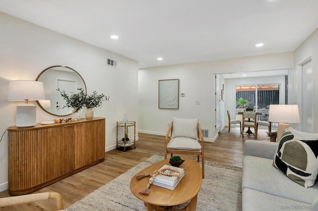
[[[288,123],[299,123],[298,105],[269,105],[268,121],[278,122],[277,142],[280,141],[282,134]]]

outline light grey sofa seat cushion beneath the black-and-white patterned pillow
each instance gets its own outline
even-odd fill
[[[318,184],[305,188],[272,166],[272,159],[244,156],[242,190],[251,188],[275,196],[312,204],[318,196]]]

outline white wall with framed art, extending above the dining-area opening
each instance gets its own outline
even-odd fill
[[[165,135],[167,123],[173,116],[199,118],[202,128],[210,130],[215,139],[215,84],[214,74],[258,70],[290,69],[293,53],[277,53],[201,63],[180,64],[139,70],[139,131]],[[180,79],[180,92],[185,97],[179,101],[178,110],[158,108],[158,80]],[[200,105],[196,105],[200,101]]]

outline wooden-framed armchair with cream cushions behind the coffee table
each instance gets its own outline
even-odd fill
[[[204,139],[198,119],[173,118],[164,139],[164,159],[167,154],[197,155],[198,162],[201,156],[204,178]]]

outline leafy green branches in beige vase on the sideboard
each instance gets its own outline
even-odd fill
[[[84,106],[87,108],[85,111],[86,119],[92,119],[94,116],[94,111],[92,110],[94,107],[99,107],[102,105],[103,101],[108,101],[109,97],[104,94],[98,95],[96,91],[91,95],[86,95],[84,100]]]

